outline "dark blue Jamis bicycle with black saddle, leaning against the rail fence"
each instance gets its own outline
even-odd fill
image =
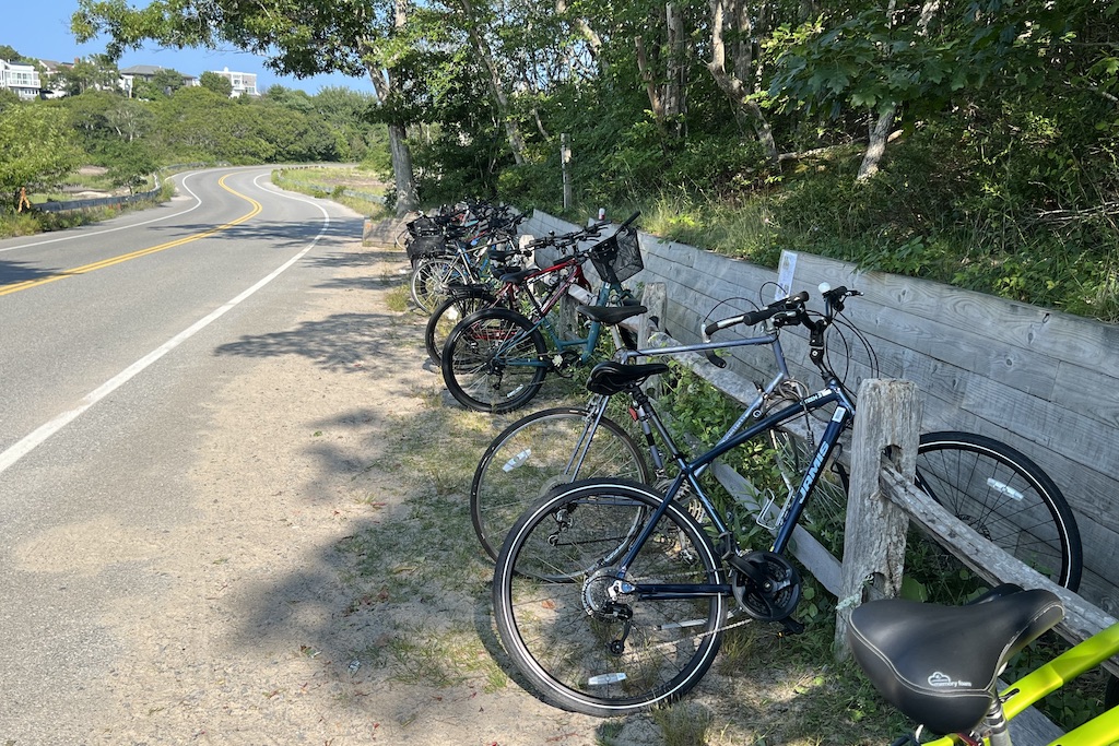
[[[827,362],[824,340],[845,299],[855,294],[846,287],[827,290],[818,318],[806,309],[807,293],[800,293],[705,330],[767,320],[774,329],[806,327],[809,358],[825,381],[820,390],[779,404],[692,461],[674,448],[679,473],[665,490],[613,478],[579,480],[554,488],[518,518],[495,567],[495,618],[510,659],[547,701],[619,716],[678,699],[713,663],[728,629],[731,602],[747,622],[803,629],[792,617],[800,575],[784,553],[854,419],[854,402]],[[603,363],[589,387],[640,397],[640,385],[666,370],[664,363]],[[774,539],[768,550],[746,551],[704,493],[698,472],[815,412],[828,422],[772,525]],[[1062,556],[1079,567],[1079,532],[1068,504],[1060,492],[1041,498],[1053,511]],[[693,514],[695,501],[703,507],[704,523]]]

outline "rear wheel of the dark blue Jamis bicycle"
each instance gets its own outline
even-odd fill
[[[547,494],[510,530],[493,574],[495,621],[514,664],[549,703],[598,717],[630,715],[679,699],[711,668],[726,596],[613,599],[605,593],[611,567],[575,575],[600,566],[604,538],[604,549],[617,550],[612,527],[662,500],[646,484],[581,480]],[[540,579],[542,569],[568,579]],[[723,573],[704,529],[674,502],[627,580],[713,584]]]

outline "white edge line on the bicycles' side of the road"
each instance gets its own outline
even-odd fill
[[[256,177],[256,179],[260,178],[261,177]],[[261,185],[256,183],[256,179],[253,179],[253,183],[256,185],[258,188],[263,189]],[[318,235],[311,239],[311,243],[308,244],[303,248],[303,251],[301,251],[299,254],[284,262],[276,270],[272,271],[272,273],[269,274],[266,277],[258,281],[255,285],[242,292],[239,295],[234,298],[232,301],[225,303],[220,308],[211,311],[205,318],[199,319],[187,329],[180,331],[178,334],[167,340],[166,342],[157,347],[154,350],[143,356],[132,365],[130,365],[121,372],[116,374],[115,376],[106,380],[104,384],[102,384],[97,388],[86,394],[85,397],[82,398],[82,402],[77,407],[70,409],[69,412],[64,412],[54,419],[50,419],[49,422],[40,425],[34,432],[31,432],[30,434],[26,435],[20,441],[18,441],[15,445],[10,446],[7,451],[0,453],[0,474],[7,471],[17,461],[19,461],[20,459],[29,454],[31,451],[37,448],[39,445],[41,445],[51,435],[54,435],[62,428],[66,427],[66,425],[77,419],[83,413],[85,413],[86,409],[88,409],[93,405],[104,399],[106,396],[119,389],[124,384],[132,380],[137,375],[139,375],[145,368],[148,368],[153,362],[159,360],[161,357],[163,357],[164,355],[177,348],[179,344],[181,344],[182,342],[187,341],[188,339],[197,334],[206,327],[217,321],[219,318],[225,315],[227,311],[232,310],[234,306],[238,305],[242,301],[254,294],[256,291],[261,290],[270,282],[279,277],[283,272],[285,272],[289,267],[295,264],[295,262],[299,262],[301,258],[307,256],[308,252],[314,248],[314,246],[319,243],[322,236],[327,233],[327,228],[330,227],[330,215],[327,213],[327,210],[323,209],[321,205],[312,202],[311,200],[308,199],[299,199],[298,197],[290,197],[289,195],[285,195],[283,192],[273,192],[273,193],[276,193],[280,197],[288,197],[289,199],[294,199],[297,201],[314,205],[316,207],[319,208],[323,217],[322,228],[319,230]]]

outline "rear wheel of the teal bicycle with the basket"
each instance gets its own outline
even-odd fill
[[[443,383],[468,409],[513,412],[539,393],[546,361],[544,334],[532,321],[508,309],[486,309],[460,321],[446,338]]]

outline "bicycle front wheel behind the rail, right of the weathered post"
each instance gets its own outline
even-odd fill
[[[1080,587],[1076,520],[1053,480],[1025,454],[975,433],[925,433],[916,485],[1054,583]]]

